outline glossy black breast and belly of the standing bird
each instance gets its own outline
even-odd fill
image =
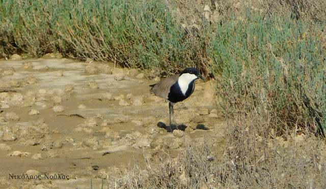
[[[184,99],[191,96],[191,94],[194,92],[194,89],[195,89],[195,81],[192,81],[191,83],[189,83],[189,86],[188,86],[187,91],[185,92],[185,95],[183,95],[182,92],[181,92],[181,88],[179,86],[179,83],[176,82],[170,88],[170,93],[169,93],[169,96],[168,96],[168,100],[173,102],[173,103],[183,101]]]

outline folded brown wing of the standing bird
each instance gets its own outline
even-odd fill
[[[161,80],[160,82],[154,84],[150,91],[154,92],[157,97],[168,99],[170,88],[178,81],[179,76],[180,74],[175,74]]]

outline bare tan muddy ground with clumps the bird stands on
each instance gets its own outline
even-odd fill
[[[192,96],[175,106],[177,122],[188,127],[167,133],[157,122],[168,123],[168,102],[148,86],[159,78],[135,69],[13,56],[0,61],[0,80],[1,188],[91,188],[91,178],[100,188],[111,167],[144,165],[161,151],[176,157],[199,139],[224,143],[214,81],[196,81]],[[198,123],[210,130],[194,130]]]

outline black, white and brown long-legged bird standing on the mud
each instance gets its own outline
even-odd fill
[[[174,117],[173,106],[175,105],[175,103],[183,101],[189,96],[191,96],[195,89],[195,80],[199,78],[205,81],[205,78],[200,75],[199,70],[197,68],[186,68],[180,74],[169,76],[158,83],[149,85],[152,87],[150,91],[154,92],[155,96],[170,101],[170,127],[172,127],[172,114],[175,126],[178,129],[178,124]]]

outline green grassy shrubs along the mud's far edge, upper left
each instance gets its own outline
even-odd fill
[[[189,54],[196,49],[165,1],[13,2],[3,2],[1,30],[12,34],[5,42],[14,38],[19,52],[39,57],[59,50],[68,57],[168,72],[195,64]]]

